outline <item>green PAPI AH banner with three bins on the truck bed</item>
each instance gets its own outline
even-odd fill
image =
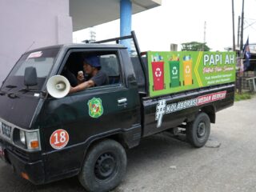
[[[147,52],[150,96],[235,81],[234,52]]]

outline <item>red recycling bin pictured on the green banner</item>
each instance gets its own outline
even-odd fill
[[[153,72],[153,90],[163,90],[164,85],[164,62],[151,62]]]

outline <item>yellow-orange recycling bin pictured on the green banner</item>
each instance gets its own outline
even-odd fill
[[[192,58],[190,57],[190,55],[185,56],[183,58],[184,86],[190,86],[193,84],[192,69]]]

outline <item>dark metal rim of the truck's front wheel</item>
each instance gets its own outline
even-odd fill
[[[105,180],[110,178],[117,170],[117,162],[113,154],[102,154],[96,161],[94,174],[96,178]]]

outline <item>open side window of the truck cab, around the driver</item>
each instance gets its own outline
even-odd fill
[[[90,74],[86,74],[83,64],[86,58],[96,56],[100,64],[100,70],[108,78],[107,85],[117,84],[121,82],[120,67],[118,62],[118,55],[114,51],[74,51],[72,50],[66,59],[65,66],[62,70],[62,75],[65,76],[71,86],[78,85],[78,72],[83,71],[85,76],[84,81],[88,81],[91,77]],[[104,85],[104,86],[105,86]]]

